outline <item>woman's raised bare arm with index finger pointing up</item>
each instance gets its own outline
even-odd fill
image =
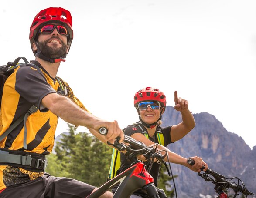
[[[188,109],[188,101],[178,98],[177,91],[174,92],[174,109],[181,112],[182,122],[171,127],[171,141],[175,142],[188,134],[195,127],[195,119]]]

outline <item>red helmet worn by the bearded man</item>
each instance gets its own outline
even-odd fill
[[[37,39],[38,30],[48,23],[57,23],[64,25],[68,29],[68,50],[71,46],[73,39],[73,30],[72,30],[72,17],[68,10],[65,10],[61,7],[49,7],[44,10],[41,10],[34,18],[33,23],[30,27],[29,40],[32,44]]]

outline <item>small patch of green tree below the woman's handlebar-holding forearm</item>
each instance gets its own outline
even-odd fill
[[[173,178],[176,178],[176,177],[177,175],[173,176]],[[157,188],[160,188],[160,189],[162,188],[167,198],[173,198],[175,195],[174,189],[171,189],[171,184],[170,184],[170,181],[173,180],[173,178],[167,175],[167,172],[164,172],[163,167],[160,169],[158,180],[157,180]]]

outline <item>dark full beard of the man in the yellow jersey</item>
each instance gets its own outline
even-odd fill
[[[50,39],[52,39],[52,38],[54,38],[54,37],[51,37]],[[49,39],[49,40],[45,40],[44,42],[38,41],[38,50],[41,51],[41,53],[44,56],[47,56],[50,58],[65,57],[68,45],[63,43],[63,41],[60,40],[57,36],[55,38],[61,42],[62,47],[58,47],[57,43],[56,44],[53,43],[52,46],[48,46],[47,43],[49,42],[49,40],[50,40]]]

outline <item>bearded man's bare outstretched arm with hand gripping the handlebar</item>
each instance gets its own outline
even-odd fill
[[[61,119],[73,125],[85,126],[97,132],[100,127],[106,127],[108,129],[108,134],[104,136],[105,141],[113,143],[118,136],[121,137],[121,142],[123,141],[123,131],[119,128],[117,121],[109,122],[100,119],[81,109],[65,96],[58,95],[57,93],[50,93],[44,96],[41,104]],[[102,138],[100,140],[102,141]]]

